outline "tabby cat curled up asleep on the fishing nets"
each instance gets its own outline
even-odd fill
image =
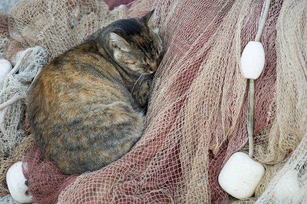
[[[98,170],[140,139],[162,57],[154,12],[97,31],[50,61],[32,83],[28,114],[34,139],[64,174]]]

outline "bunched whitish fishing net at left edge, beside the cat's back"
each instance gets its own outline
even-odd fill
[[[0,110],[1,157],[12,154],[16,144],[25,138],[23,125],[20,122],[25,114],[28,89],[38,68],[45,65],[46,59],[47,51],[41,47],[35,47],[23,59],[17,73],[9,77],[7,86],[2,90],[0,104],[13,99],[18,100]]]

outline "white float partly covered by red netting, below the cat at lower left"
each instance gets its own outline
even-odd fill
[[[22,162],[13,164],[6,175],[7,185],[11,196],[21,203],[32,203],[33,199],[29,193],[29,187],[25,184],[26,178],[21,168]]]

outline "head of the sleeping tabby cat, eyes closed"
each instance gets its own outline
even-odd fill
[[[163,42],[153,25],[155,10],[141,18],[118,20],[108,33],[114,60],[139,74],[156,72],[162,58]]]

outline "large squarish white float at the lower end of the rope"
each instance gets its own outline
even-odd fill
[[[218,175],[218,183],[228,194],[244,199],[254,194],[264,174],[265,168],[261,164],[244,152],[236,152]]]

